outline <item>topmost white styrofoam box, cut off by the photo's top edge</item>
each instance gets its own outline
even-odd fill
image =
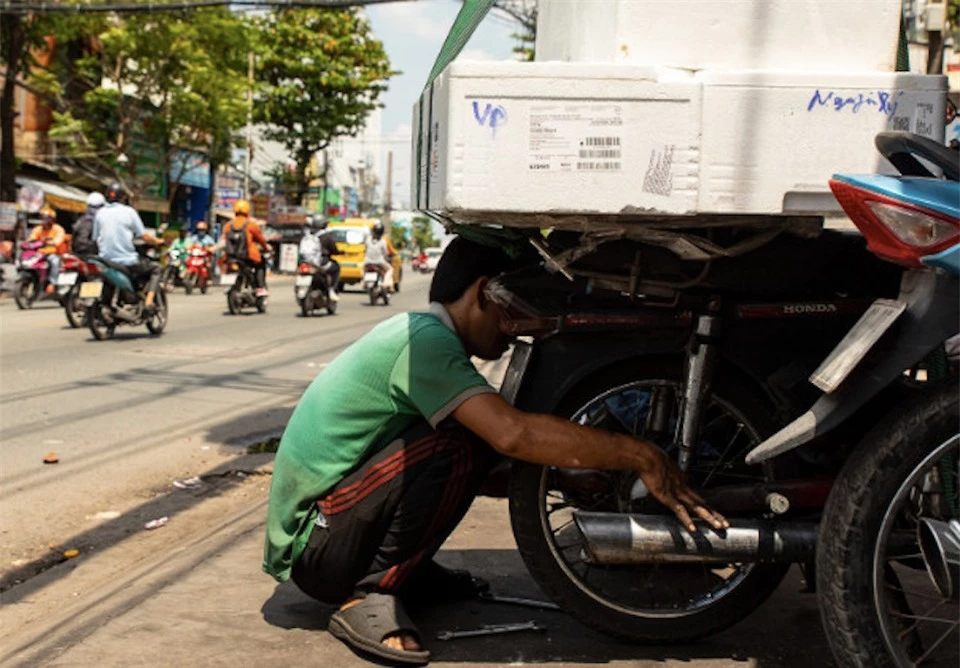
[[[538,61],[892,71],[901,0],[539,0]]]

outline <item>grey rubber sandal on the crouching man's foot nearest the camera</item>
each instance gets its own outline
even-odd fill
[[[387,636],[408,633],[420,640],[420,632],[396,597],[389,594],[367,594],[356,605],[338,610],[330,617],[327,630],[350,647],[381,659],[411,666],[430,661],[430,652],[393,649],[383,644]]]

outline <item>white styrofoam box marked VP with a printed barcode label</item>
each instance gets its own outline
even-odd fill
[[[414,109],[411,200],[447,212],[687,213],[700,116],[687,72],[457,61]]]

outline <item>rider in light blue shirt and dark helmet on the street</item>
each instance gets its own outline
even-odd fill
[[[154,310],[154,299],[160,284],[160,264],[141,257],[133,245],[134,239],[143,239],[151,246],[160,241],[147,234],[143,221],[136,210],[124,204],[127,196],[123,186],[114,183],[107,189],[107,204],[93,219],[93,238],[100,249],[100,257],[127,268],[134,278],[148,277],[147,296],[143,307],[149,313]]]

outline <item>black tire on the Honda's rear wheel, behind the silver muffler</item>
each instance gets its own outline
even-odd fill
[[[637,360],[601,370],[578,384],[560,403],[556,415],[570,418],[594,397],[608,390],[644,380],[678,383],[681,361]],[[721,398],[744,417],[744,422],[763,438],[775,430],[769,405],[733,376],[717,372],[712,397]],[[767,470],[767,475],[770,471]],[[601,602],[584,591],[565,564],[554,554],[541,516],[545,467],[517,462],[510,476],[510,518],[514,538],[524,563],[543,591],[583,624],[629,642],[676,643],[717,633],[737,623],[773,593],[789,570],[789,564],[755,564],[736,586],[717,600],[697,610],[680,614],[629,612]],[[637,571],[638,576],[641,571]],[[648,576],[649,578],[649,576]]]

